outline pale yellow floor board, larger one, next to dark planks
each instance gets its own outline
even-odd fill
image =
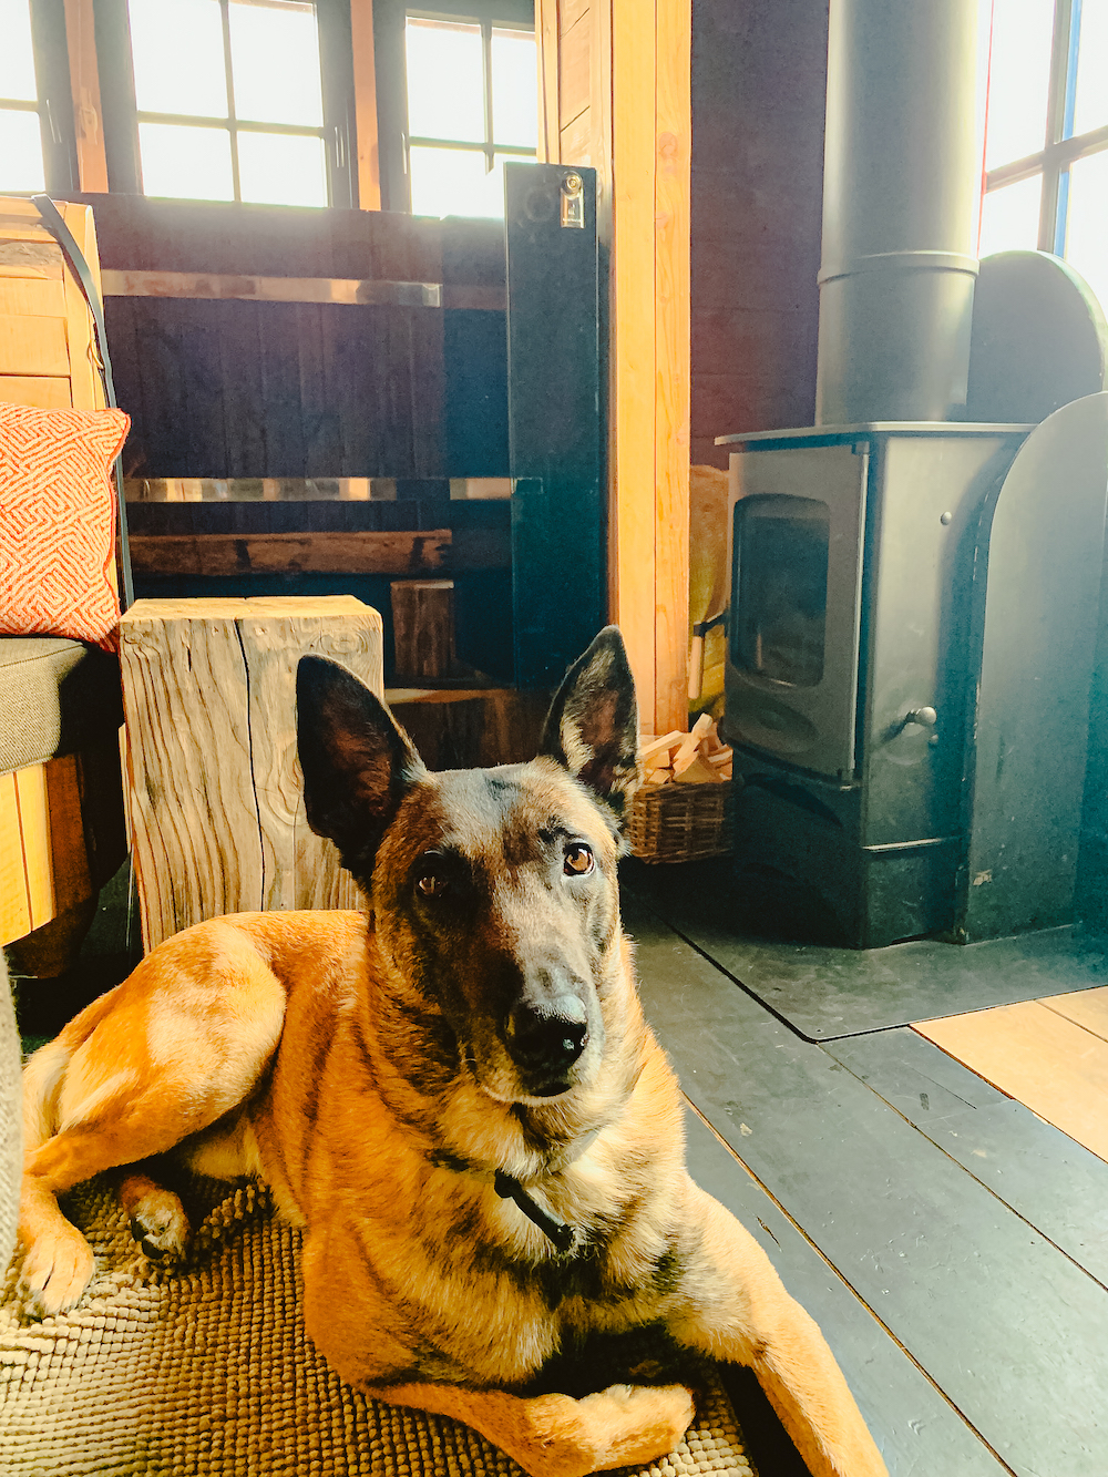
[[[1037,1000],[914,1029],[1108,1161],[1108,1041]]]

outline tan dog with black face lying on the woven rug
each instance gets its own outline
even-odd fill
[[[428,772],[321,657],[297,671],[312,829],[365,911],[211,919],[25,1068],[24,1295],[72,1307],[92,1251],[58,1193],[123,1168],[151,1255],[189,1233],[158,1156],[256,1176],[301,1226],[307,1331],[341,1378],[467,1422],[532,1477],[647,1464],[683,1385],[529,1394],[588,1335],[663,1325],[749,1365],[814,1477],[885,1465],[811,1317],[684,1167],[683,1099],[619,917],[640,778],[609,626],[529,764]]]

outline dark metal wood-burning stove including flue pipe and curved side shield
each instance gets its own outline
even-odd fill
[[[855,948],[926,935],[966,942],[1074,917],[1108,396],[1064,406],[1039,428],[1016,419],[1015,402],[1012,424],[966,419],[978,332],[977,10],[965,0],[832,0],[820,424],[718,440],[733,448],[724,733],[740,787],[739,880],[799,886],[833,920],[827,941]],[[1090,341],[1104,347],[1098,313],[1093,304]],[[1087,388],[1102,384],[1101,374]],[[1012,554],[1021,533],[1008,504],[1027,524],[1025,560]],[[1052,507],[1062,518],[1040,557],[1036,520]],[[990,541],[1008,551],[991,575]],[[1074,589],[1044,597],[1043,582],[1067,583],[1067,546]],[[1021,610],[1021,580],[1042,610]],[[991,623],[990,601],[1005,610]],[[1010,675],[1021,640],[1040,651],[1039,685],[1022,702]],[[1052,642],[1055,666],[1042,657]],[[988,706],[1000,688],[1010,713]],[[991,736],[987,755],[979,734]],[[1050,744],[1073,749],[1056,784]],[[1018,823],[1021,809],[1030,823]],[[1037,817],[1044,836],[1071,837],[1058,864],[1027,842]],[[1052,901],[1037,908],[1028,897],[1047,873]],[[987,894],[974,889],[1002,877],[997,905],[982,905]]]

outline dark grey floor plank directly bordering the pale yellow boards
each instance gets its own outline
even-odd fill
[[[1108,1285],[1108,1164],[907,1027],[824,1050]]]

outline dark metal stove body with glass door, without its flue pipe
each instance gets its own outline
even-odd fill
[[[974,548],[1028,430],[727,437],[736,863],[817,892],[855,947],[953,929]]]

